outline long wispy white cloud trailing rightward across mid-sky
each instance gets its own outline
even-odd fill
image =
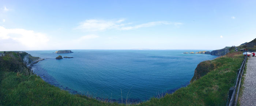
[[[182,25],[182,23],[172,23],[169,21],[153,21],[143,24],[131,25],[131,23],[123,23],[124,19],[120,20],[85,20],[75,29],[80,29],[84,31],[104,31],[104,30],[133,30],[142,27],[153,27],[155,25],[168,25],[173,24],[176,27]]]

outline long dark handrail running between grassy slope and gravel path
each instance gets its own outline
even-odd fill
[[[243,72],[244,72],[244,67],[245,67],[245,63],[246,63],[247,57],[248,57],[248,55],[245,56],[244,61],[243,61],[242,65],[241,65],[241,67],[239,69],[239,72],[238,72],[238,75],[237,75],[237,79],[236,79],[236,85],[234,87],[234,90],[233,90],[233,93],[232,93],[232,96],[231,96],[231,99],[230,99],[230,102],[229,102],[229,106],[236,106],[237,105],[239,90],[240,90],[240,86],[241,86],[241,79],[242,79],[242,75],[243,75]],[[238,84],[238,81],[239,81],[239,84]],[[238,84],[238,88],[237,88],[237,84]],[[237,93],[235,94],[236,89],[237,89]],[[236,95],[236,97],[235,97],[235,95]]]

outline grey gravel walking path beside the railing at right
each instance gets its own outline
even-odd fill
[[[250,56],[246,62],[247,69],[244,74],[244,90],[240,97],[241,106],[256,106],[256,57]]]

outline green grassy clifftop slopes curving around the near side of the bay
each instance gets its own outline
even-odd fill
[[[28,72],[18,58],[15,54],[0,57],[0,105],[124,105],[72,95],[49,85]],[[236,52],[211,60],[218,65],[200,79],[173,94],[138,105],[225,105],[227,91],[234,83],[243,58]]]

